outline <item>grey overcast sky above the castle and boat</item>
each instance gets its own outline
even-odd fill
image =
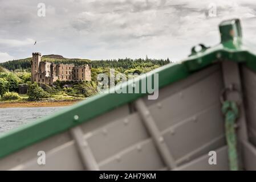
[[[46,6],[45,17],[38,16],[38,3]],[[230,18],[240,18],[244,37],[256,43],[255,0],[0,0],[0,62],[35,51],[176,61],[198,43],[218,44],[218,23]]]

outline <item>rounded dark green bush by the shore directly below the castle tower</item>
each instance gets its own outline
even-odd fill
[[[39,101],[41,98],[48,98],[50,94],[45,92],[36,82],[29,85],[29,89],[27,90],[27,94],[29,95],[30,101]]]

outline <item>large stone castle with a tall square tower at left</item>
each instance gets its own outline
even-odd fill
[[[41,53],[32,53],[31,81],[53,85],[60,81],[91,81],[91,65],[55,64],[41,61]]]

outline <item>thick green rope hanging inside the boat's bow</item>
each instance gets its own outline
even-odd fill
[[[238,106],[234,101],[225,101],[222,104],[222,113],[225,115],[226,141],[229,156],[230,171],[238,170],[237,137],[235,135],[235,121],[238,118]]]

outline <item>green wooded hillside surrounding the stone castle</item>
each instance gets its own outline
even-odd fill
[[[52,63],[84,65],[92,64],[91,81],[70,82],[55,81],[54,86],[31,83],[31,60],[32,58],[6,61],[0,64],[0,95],[2,102],[27,102],[27,101],[77,101],[97,94],[98,80],[100,73],[110,76],[110,69],[115,69],[117,73],[124,73],[129,77],[129,73],[146,73],[162,65],[170,63],[169,59],[118,59],[118,60],[95,60],[88,59],[68,59],[61,55],[44,55],[42,61]],[[6,73],[3,73],[6,72]],[[116,81],[117,83],[117,81]],[[27,94],[18,94],[19,84],[28,86]],[[66,84],[70,87],[66,88]]]

